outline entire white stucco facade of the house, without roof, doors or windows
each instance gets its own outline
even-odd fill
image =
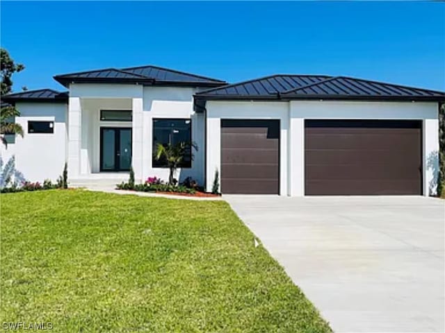
[[[396,101],[207,101],[195,112],[193,95],[202,88],[138,84],[76,83],[67,103],[17,103],[17,123],[24,137],[3,146],[3,162],[15,155],[16,167],[32,181],[56,180],[67,162],[70,180],[113,178],[100,167],[100,128],[131,128],[131,165],[136,180],[168,179],[168,169],[154,167],[154,119],[190,119],[191,168],[177,171],[180,182],[190,176],[211,191],[221,170],[221,119],[280,121],[281,196],[305,196],[305,121],[307,119],[413,119],[422,121],[423,195],[436,193],[439,164],[437,102]],[[131,121],[102,121],[101,110],[128,110]],[[54,133],[28,133],[28,121],[54,121]],[[120,173],[127,178],[128,172]],[[224,193],[224,188],[220,188]]]

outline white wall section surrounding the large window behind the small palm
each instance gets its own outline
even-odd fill
[[[152,167],[153,119],[180,118],[191,119],[192,141],[197,144],[193,150],[192,167],[178,169],[175,178],[180,182],[190,176],[204,185],[204,114],[193,111],[193,94],[197,89],[191,87],[144,87],[143,99],[143,178],[156,176],[168,180],[168,168]]]

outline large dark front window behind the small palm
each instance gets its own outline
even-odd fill
[[[190,119],[153,119],[153,167],[168,167],[165,160],[156,160],[156,144],[179,144],[192,141],[192,123]],[[190,168],[192,164],[192,151],[188,149],[181,164],[183,168]]]

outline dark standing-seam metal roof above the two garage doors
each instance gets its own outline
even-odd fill
[[[195,94],[209,99],[357,99],[442,101],[445,92],[346,76],[274,75]]]

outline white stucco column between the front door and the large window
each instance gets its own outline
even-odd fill
[[[133,150],[131,165],[136,180],[143,180],[143,98],[137,97],[131,100],[133,110]]]

